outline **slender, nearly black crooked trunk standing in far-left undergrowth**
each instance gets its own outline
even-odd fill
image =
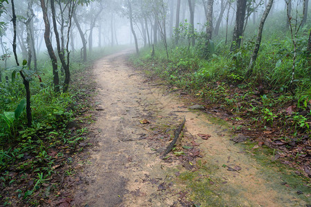
[[[17,52],[16,52],[16,14],[15,14],[15,4],[14,0],[11,0],[11,6],[12,6],[12,22],[13,22],[13,53],[15,57],[15,61],[17,66],[19,66],[19,60],[17,58]],[[26,76],[23,74],[23,71],[20,70],[19,74],[23,78],[23,85],[25,86],[26,90],[26,117],[27,117],[27,126],[30,127],[32,124],[32,115],[31,115],[31,108],[30,108],[30,86],[29,81],[26,79]]]

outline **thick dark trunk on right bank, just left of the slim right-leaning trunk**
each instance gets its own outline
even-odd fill
[[[232,45],[230,49],[232,51],[241,47],[241,36],[243,35],[246,2],[247,0],[238,0],[236,4],[236,26],[234,26]]]

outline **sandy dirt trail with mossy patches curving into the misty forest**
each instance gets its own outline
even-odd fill
[[[230,141],[229,124],[189,110],[178,97],[127,65],[129,52],[97,61],[99,110],[91,130],[97,146],[77,186],[77,206],[305,206],[294,188]],[[185,117],[182,143],[197,156],[155,151],[169,144],[165,133]],[[141,124],[146,119],[150,124]],[[214,120],[214,121],[213,121]],[[211,135],[201,139],[198,134]],[[182,145],[183,145],[182,144]],[[192,151],[194,153],[194,151]],[[190,153],[191,154],[191,153]],[[268,172],[272,172],[269,174]],[[203,175],[205,173],[205,175]],[[308,194],[308,193],[305,193]],[[308,195],[303,195],[308,196]]]

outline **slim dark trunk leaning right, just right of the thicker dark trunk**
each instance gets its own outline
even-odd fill
[[[270,9],[272,8],[272,4],[273,4],[273,0],[270,0],[267,6],[265,7],[265,12],[263,12],[263,17],[261,17],[261,22],[259,23],[255,48],[253,50],[253,54],[249,62],[248,70],[247,70],[247,76],[252,75],[254,64],[257,59],[258,51],[261,46],[261,35],[263,33],[263,25],[265,24],[265,19],[267,19],[267,15],[269,14]]]

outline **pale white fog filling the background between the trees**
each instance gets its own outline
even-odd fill
[[[33,49],[31,49],[32,54],[34,52],[45,52],[47,54],[44,40],[46,26],[42,12],[42,2],[44,2],[47,7],[48,23],[50,24],[49,39],[53,48],[56,50],[57,44],[55,41],[55,32],[53,31],[54,26],[50,0],[15,0],[15,12],[17,14],[17,52],[23,59],[27,59],[28,57],[28,50],[31,48],[29,46],[30,44],[34,44]],[[191,12],[189,9],[189,2],[193,4],[193,21],[196,32],[205,31],[207,19],[205,16],[204,0],[181,0],[178,22],[182,23],[184,26],[190,23]],[[176,26],[178,26],[178,23],[176,24],[178,0],[54,0],[54,3],[57,30],[59,30],[59,38],[62,41],[62,49],[66,50],[66,43],[68,41],[68,51],[72,54],[82,51],[82,36],[84,36],[87,46],[87,49],[84,48],[84,50],[87,50],[88,53],[91,52],[93,48],[132,45],[135,43],[135,36],[137,38],[138,47],[140,48],[158,43],[163,37],[168,40],[171,39]],[[129,10],[130,5],[131,11]],[[220,14],[222,5],[223,14]],[[247,19],[245,19],[247,22],[245,27],[258,24],[266,5],[267,0],[249,1],[249,8],[247,8],[247,12],[249,13],[246,14],[248,16]],[[303,2],[292,0],[291,5],[292,10],[294,10],[297,7],[301,8]],[[216,23],[219,21],[219,28],[217,28],[217,30],[219,30],[221,34],[221,32],[225,31],[225,28],[229,28],[227,34],[231,37],[236,20],[236,1],[230,3],[230,1],[227,0],[218,0],[214,1],[213,6],[213,29],[216,29]],[[285,23],[286,6],[284,0],[274,1],[268,18],[270,18],[272,14],[279,12],[279,14],[283,14]],[[220,17],[220,15],[222,17]],[[73,16],[76,16],[77,21],[74,20]],[[3,2],[0,18],[2,22],[0,30],[0,54],[4,60],[6,57],[12,55],[13,26],[11,2]],[[133,20],[133,32],[131,31],[131,19]],[[79,32],[77,23],[79,23],[83,34]],[[29,24],[28,28],[27,24]],[[68,31],[69,26],[70,30]],[[256,31],[254,31],[254,34],[255,33]],[[218,34],[214,34],[213,38],[217,37],[217,35]],[[30,41],[31,39],[33,39],[33,41]],[[1,65],[3,64],[1,63]]]

